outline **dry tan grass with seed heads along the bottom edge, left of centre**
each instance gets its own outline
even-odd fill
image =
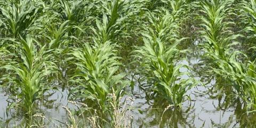
[[[111,109],[113,110],[113,118],[111,118],[111,123],[102,123],[102,117],[97,114],[97,108],[92,108],[87,106],[85,103],[76,103],[74,101],[68,101],[75,107],[77,110],[72,111],[67,107],[62,106],[68,112],[69,122],[65,123],[67,127],[115,127],[115,128],[125,128],[131,127],[131,105],[133,99],[130,97],[126,98],[116,98],[114,93],[109,94]],[[118,100],[118,101],[115,101]],[[79,112],[79,113],[76,113]],[[78,115],[78,118],[76,118]],[[87,116],[90,115],[90,116]]]

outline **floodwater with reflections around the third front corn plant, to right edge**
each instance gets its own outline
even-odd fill
[[[185,65],[197,64],[198,59],[182,61]],[[180,71],[186,71],[180,69]],[[186,78],[187,76],[184,76]],[[209,79],[196,77],[198,80]],[[183,103],[182,109],[164,112],[161,99],[148,98],[140,85],[134,87],[134,127],[254,127],[255,114],[246,114],[239,99],[226,95],[230,87],[215,88],[214,79],[205,86],[199,85],[188,91],[191,102]],[[214,86],[214,87],[213,87]],[[219,87],[219,86],[217,86]],[[222,89],[222,90],[221,90]],[[229,94],[228,93],[228,94]],[[162,102],[162,103],[161,103]],[[239,107],[240,106],[240,107]],[[164,113],[163,113],[164,112]],[[161,119],[162,118],[162,119]]]

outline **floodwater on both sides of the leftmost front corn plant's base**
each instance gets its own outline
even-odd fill
[[[3,91],[2,91],[3,92]],[[49,127],[62,126],[62,123],[67,122],[68,116],[66,110],[62,106],[68,105],[68,90],[60,91],[49,91],[48,97],[42,103],[38,103],[40,111],[38,111],[39,117],[33,118],[33,123],[39,125],[47,125]],[[8,96],[4,93],[0,94],[0,119],[9,127],[17,125],[26,126],[29,123],[28,119],[24,118],[23,115],[19,115],[19,109],[8,110]],[[72,108],[72,106],[69,106]],[[42,118],[42,117],[43,118]],[[0,121],[1,121],[0,120]],[[1,124],[1,122],[0,122]],[[0,125],[1,127],[1,125]]]

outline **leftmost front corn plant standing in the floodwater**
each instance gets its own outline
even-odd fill
[[[26,40],[21,37],[19,54],[14,61],[7,61],[2,68],[10,71],[4,78],[9,81],[9,86],[17,88],[17,98],[21,100],[21,108],[28,116],[33,114],[36,100],[43,97],[46,90],[50,89],[48,76],[56,69],[51,51],[45,51],[45,46],[38,47],[34,39],[27,35]]]

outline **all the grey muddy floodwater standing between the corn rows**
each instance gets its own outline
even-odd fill
[[[193,65],[198,63],[198,59],[191,59],[190,63],[184,60],[181,63]],[[183,68],[180,70],[186,71]],[[196,78],[201,79],[200,76]],[[205,86],[199,85],[189,90],[187,95],[190,95],[191,102],[185,101],[181,110],[168,109],[164,113],[164,108],[156,105],[156,102],[161,100],[147,98],[145,91],[140,88],[141,85],[136,80],[134,82],[134,89],[131,90],[130,87],[127,89],[132,94],[125,96],[134,99],[131,111],[132,127],[241,127],[246,126],[247,123],[250,123],[247,126],[255,126],[255,122],[250,122],[250,119],[255,119],[255,116],[243,114],[244,112],[240,108],[235,107],[239,103],[229,105],[230,102],[226,103],[225,94],[210,91],[215,84],[214,79]],[[71,109],[74,107],[68,103],[68,90],[51,93],[47,103],[41,105],[45,123],[49,127],[65,126],[62,123],[67,122],[68,114],[62,106],[68,106]],[[216,95],[222,95],[222,97],[214,97]],[[6,122],[11,127],[15,122],[21,122],[22,118],[14,118],[15,111],[13,110],[6,113],[7,98],[7,95],[1,90],[0,121]]]

